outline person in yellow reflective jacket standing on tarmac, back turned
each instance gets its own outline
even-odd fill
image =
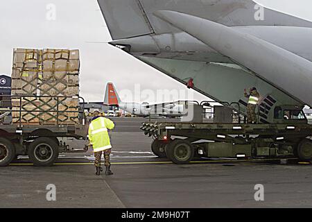
[[[110,136],[108,130],[114,128],[114,122],[105,117],[101,117],[98,111],[94,111],[94,118],[89,125],[89,141],[94,151],[94,165],[96,167],[96,175],[100,175],[103,171],[101,168],[101,157],[104,153],[106,175],[112,175],[110,170],[110,153],[112,145],[110,144]]]

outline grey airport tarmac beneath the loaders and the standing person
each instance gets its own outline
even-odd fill
[[[60,154],[53,167],[19,157],[0,170],[0,207],[312,207],[312,167],[296,160],[196,160],[155,157],[141,118],[112,118],[113,176],[96,176],[92,151]],[[56,201],[46,200],[46,186]],[[254,200],[264,187],[264,201]]]

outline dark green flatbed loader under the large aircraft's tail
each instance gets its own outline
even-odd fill
[[[289,106],[286,106],[289,109]],[[296,107],[293,108],[297,109]],[[296,110],[298,111],[298,110]],[[300,110],[301,112],[301,110]],[[153,153],[175,164],[198,157],[299,157],[310,161],[312,126],[305,119],[284,123],[145,122]],[[182,138],[181,138],[182,137]]]

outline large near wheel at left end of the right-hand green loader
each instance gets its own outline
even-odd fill
[[[175,164],[189,164],[194,157],[193,145],[185,139],[175,139],[166,146],[166,156]]]

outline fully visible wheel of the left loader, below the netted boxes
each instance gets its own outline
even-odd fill
[[[58,144],[55,139],[39,137],[29,144],[27,153],[35,166],[50,167],[58,160]]]

